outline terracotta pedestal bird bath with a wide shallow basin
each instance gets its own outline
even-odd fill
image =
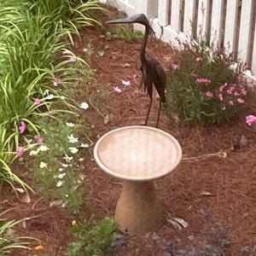
[[[148,126],[126,126],[109,131],[94,148],[102,171],[123,180],[114,218],[119,229],[144,234],[160,223],[160,201],[154,180],[172,172],[182,158],[177,140]]]

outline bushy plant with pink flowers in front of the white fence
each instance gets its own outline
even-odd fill
[[[180,45],[168,73],[167,110],[193,123],[230,120],[247,102],[245,67],[233,54],[206,41]]]

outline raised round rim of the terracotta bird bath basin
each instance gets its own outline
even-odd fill
[[[156,175],[154,177],[134,177],[134,176],[120,174],[118,172],[113,172],[111,169],[108,168],[108,166],[104,165],[104,163],[102,162],[102,160],[100,159],[99,154],[98,154],[101,143],[108,137],[111,137],[111,135],[113,135],[114,133],[118,133],[119,131],[124,131],[124,130],[131,130],[131,129],[139,129],[139,130],[145,130],[145,131],[150,130],[150,131],[158,132],[158,133],[161,133],[164,137],[169,137],[169,139],[172,140],[172,143],[175,144],[175,148],[177,149],[178,154],[177,154],[177,160],[175,161],[175,165],[172,166],[171,170],[169,170],[166,173],[164,172],[164,173],[161,173],[160,175]],[[181,148],[180,144],[177,142],[177,139],[175,137],[173,137],[171,134],[167,133],[166,131],[162,131],[160,129],[157,129],[154,127],[149,127],[149,126],[131,125],[131,126],[117,128],[112,131],[108,131],[106,134],[104,134],[96,142],[96,145],[94,148],[94,157],[95,157],[97,165],[102,169],[102,171],[108,173],[112,177],[116,177],[116,178],[126,180],[126,181],[146,182],[146,181],[152,181],[154,179],[158,179],[160,177],[164,177],[168,173],[175,170],[182,159],[182,148]]]

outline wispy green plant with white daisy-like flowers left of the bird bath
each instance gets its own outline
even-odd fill
[[[91,155],[91,142],[78,136],[78,123],[42,118],[41,127],[44,143],[30,150],[27,165],[45,201],[77,213],[84,201],[84,159]]]

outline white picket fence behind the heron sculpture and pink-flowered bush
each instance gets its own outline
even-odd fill
[[[108,0],[108,3],[128,16],[147,15],[156,36],[173,45],[177,45],[177,37],[191,37],[194,24],[198,34],[207,34],[218,44],[230,47],[256,73],[256,0]],[[139,25],[135,28],[144,30]]]

